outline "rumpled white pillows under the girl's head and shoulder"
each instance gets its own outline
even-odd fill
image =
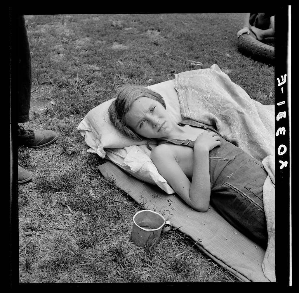
[[[173,79],[147,88],[158,92],[164,98],[167,111],[179,122],[184,118],[181,116],[174,82]],[[156,184],[168,194],[174,193],[152,163],[147,141],[136,142],[123,137],[110,122],[108,108],[114,100],[115,98],[91,109],[78,125],[77,130],[84,136],[86,144],[90,147],[88,152],[96,153],[101,158],[106,157],[134,177]],[[154,148],[155,145],[151,147]]]

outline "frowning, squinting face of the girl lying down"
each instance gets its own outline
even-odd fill
[[[141,97],[126,114],[128,126],[147,138],[165,138],[173,128],[173,121],[158,101]]]

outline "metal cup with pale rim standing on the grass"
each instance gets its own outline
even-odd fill
[[[157,212],[145,209],[133,217],[131,239],[137,246],[156,245],[160,238],[165,219]]]

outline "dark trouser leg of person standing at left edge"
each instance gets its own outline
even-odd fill
[[[23,15],[16,16],[18,123],[29,121],[31,96],[31,56]]]

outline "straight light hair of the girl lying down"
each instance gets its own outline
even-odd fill
[[[127,124],[126,114],[130,110],[132,104],[139,98],[146,97],[158,101],[166,109],[164,99],[160,94],[139,85],[126,85],[120,88],[116,99],[111,103],[108,112],[109,118],[115,128],[123,135],[133,140],[147,139],[135,133]]]

